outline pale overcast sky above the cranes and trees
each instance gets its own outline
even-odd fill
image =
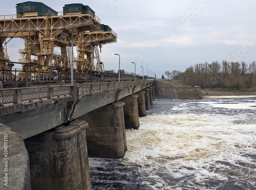
[[[16,4],[4,1],[1,15],[16,14]],[[212,61],[256,61],[255,0],[45,0],[55,11],[70,3],[90,6],[104,25],[117,33],[117,42],[104,44],[100,53],[105,70],[184,72],[189,66]],[[20,39],[7,44],[11,61],[18,61]],[[152,76],[153,76],[152,73]],[[151,76],[151,74],[148,74]],[[166,77],[166,76],[165,76]]]

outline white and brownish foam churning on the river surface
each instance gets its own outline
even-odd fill
[[[215,102],[206,103],[216,106]],[[243,104],[241,109],[248,106]],[[168,189],[158,173],[180,179],[177,189],[183,178],[193,178],[200,184],[207,180],[227,181],[222,171],[230,170],[230,166],[223,163],[243,162],[256,167],[252,157],[243,155],[256,151],[255,117],[254,123],[236,122],[246,116],[203,113],[141,117],[139,130],[126,130],[128,150],[121,161],[139,166],[142,173],[156,181],[151,185],[154,189]],[[256,175],[255,169],[250,172]]]

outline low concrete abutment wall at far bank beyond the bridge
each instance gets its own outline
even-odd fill
[[[157,94],[165,99],[202,99],[200,87],[175,87],[169,84],[157,82]]]

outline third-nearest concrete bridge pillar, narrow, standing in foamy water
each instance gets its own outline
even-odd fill
[[[138,111],[138,95],[133,94],[132,96],[121,99],[125,103],[123,106],[124,121],[126,129],[139,129],[139,111]]]

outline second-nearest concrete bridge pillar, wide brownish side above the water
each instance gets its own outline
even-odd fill
[[[109,104],[84,114],[89,123],[87,146],[90,157],[122,158],[127,150],[123,102]]]

